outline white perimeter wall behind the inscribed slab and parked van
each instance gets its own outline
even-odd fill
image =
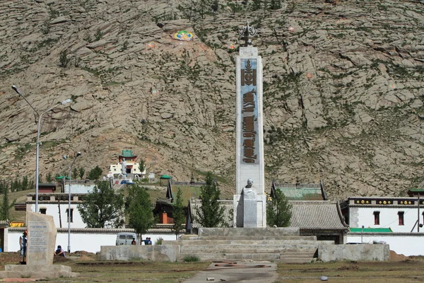
[[[20,250],[19,237],[21,231],[8,231],[5,237],[5,252],[16,252]],[[175,240],[175,235],[172,234],[146,234],[143,238],[150,237],[153,245],[158,238],[163,238],[166,241]],[[115,246],[117,233],[71,233],[71,252],[76,250],[85,250],[90,253],[100,252],[100,246]],[[64,250],[68,249],[68,233],[57,233],[56,245],[60,245]]]

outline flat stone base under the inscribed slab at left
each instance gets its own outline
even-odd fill
[[[5,271],[0,272],[0,278],[59,278],[78,277],[79,273],[72,272],[66,265],[6,265]]]

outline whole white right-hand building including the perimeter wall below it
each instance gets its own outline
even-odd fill
[[[349,197],[341,204],[350,226],[345,243],[387,243],[404,255],[424,255],[424,190],[409,197]]]

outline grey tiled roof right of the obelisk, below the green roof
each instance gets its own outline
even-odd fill
[[[290,202],[292,218],[290,227],[306,230],[347,230],[343,225],[337,204],[331,202]]]

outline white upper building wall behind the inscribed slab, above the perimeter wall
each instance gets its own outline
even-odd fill
[[[61,226],[59,224],[59,205],[58,204],[38,204],[38,209],[46,207],[47,215],[52,215],[54,219],[54,225],[57,228],[68,228],[68,214],[66,214],[66,209],[68,209],[68,204],[60,204],[60,214],[61,214]],[[35,212],[35,204],[27,204],[27,209],[31,212]],[[78,212],[77,204],[72,204],[71,209],[73,209],[73,221],[71,222],[72,228],[86,228],[81,215]]]

